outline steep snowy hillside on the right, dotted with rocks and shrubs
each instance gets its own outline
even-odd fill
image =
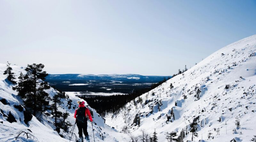
[[[106,123],[119,131],[128,125],[134,136],[143,129],[150,134],[156,129],[159,141],[164,142],[164,134],[172,131],[181,134],[180,141],[191,140],[189,124],[194,120],[198,127],[194,141],[248,142],[256,135],[255,85],[253,35],[216,51],[183,74],[129,102],[124,109],[107,116]],[[236,129],[236,117],[240,129]],[[208,138],[208,133],[212,137]]]

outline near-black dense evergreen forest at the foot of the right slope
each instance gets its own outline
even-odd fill
[[[170,79],[170,78],[168,78]],[[168,80],[167,79],[167,80]],[[125,95],[111,95],[111,96],[102,96],[102,95],[79,95],[78,97],[87,101],[88,105],[97,110],[101,116],[105,116],[107,113],[114,113],[118,109],[124,107],[127,102],[134,100],[136,97],[139,97],[143,93],[156,88],[157,86],[163,84],[166,81],[164,80],[152,84],[150,87],[143,89],[134,90],[132,93]]]

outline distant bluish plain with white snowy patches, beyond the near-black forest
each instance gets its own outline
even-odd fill
[[[78,77],[77,77],[78,76]],[[132,93],[134,90],[148,88],[153,84],[171,76],[141,75],[104,75],[92,76],[79,74],[49,75],[46,81],[63,92],[96,92],[96,93]]]

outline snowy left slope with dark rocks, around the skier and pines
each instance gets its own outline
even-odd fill
[[[26,71],[24,71],[24,67],[17,65],[12,65],[11,67],[16,75],[19,75],[20,72],[23,72],[24,74],[26,73]],[[6,64],[0,64],[0,141],[29,141],[27,138],[25,138],[26,135],[21,135],[20,138],[15,140],[17,132],[19,131],[30,132],[40,142],[69,141],[67,140],[68,136],[65,137],[66,139],[61,138],[58,132],[54,131],[55,126],[53,125],[53,119],[51,116],[44,116],[44,121],[39,122],[35,116],[32,116],[31,114],[29,115],[29,113],[23,107],[23,103],[17,95],[17,92],[12,90],[13,85],[6,79],[6,76],[3,75],[5,69]],[[57,93],[57,91],[53,88],[47,90],[46,92],[49,93],[51,97]],[[75,119],[73,116],[76,108],[76,101],[80,99],[74,95],[70,95],[69,98],[72,100],[71,108],[68,109],[67,100],[62,99],[61,101],[63,104],[59,107],[59,109],[62,112],[68,112],[69,116],[66,121],[74,124]],[[107,126],[104,123],[104,119],[94,109],[90,107],[89,109],[92,110],[94,116],[93,128],[95,141],[117,142],[118,140],[115,137],[121,141],[125,141],[125,139],[123,140],[123,135],[121,133],[118,133],[115,129]],[[29,121],[29,118],[31,121]],[[88,122],[88,132],[91,140],[93,140],[92,125],[90,122]],[[76,126],[74,133],[78,133]],[[63,130],[60,131],[60,134],[63,134]],[[73,138],[72,140],[75,139]]]

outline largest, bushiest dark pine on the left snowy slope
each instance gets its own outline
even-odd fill
[[[29,108],[33,115],[41,116],[45,110],[49,108],[49,94],[44,90],[49,89],[48,83],[44,82],[45,77],[48,75],[46,71],[42,71],[43,64],[32,64],[27,66],[25,71],[27,74],[24,76],[22,73],[19,77],[18,86],[13,87],[21,96],[25,106]]]

